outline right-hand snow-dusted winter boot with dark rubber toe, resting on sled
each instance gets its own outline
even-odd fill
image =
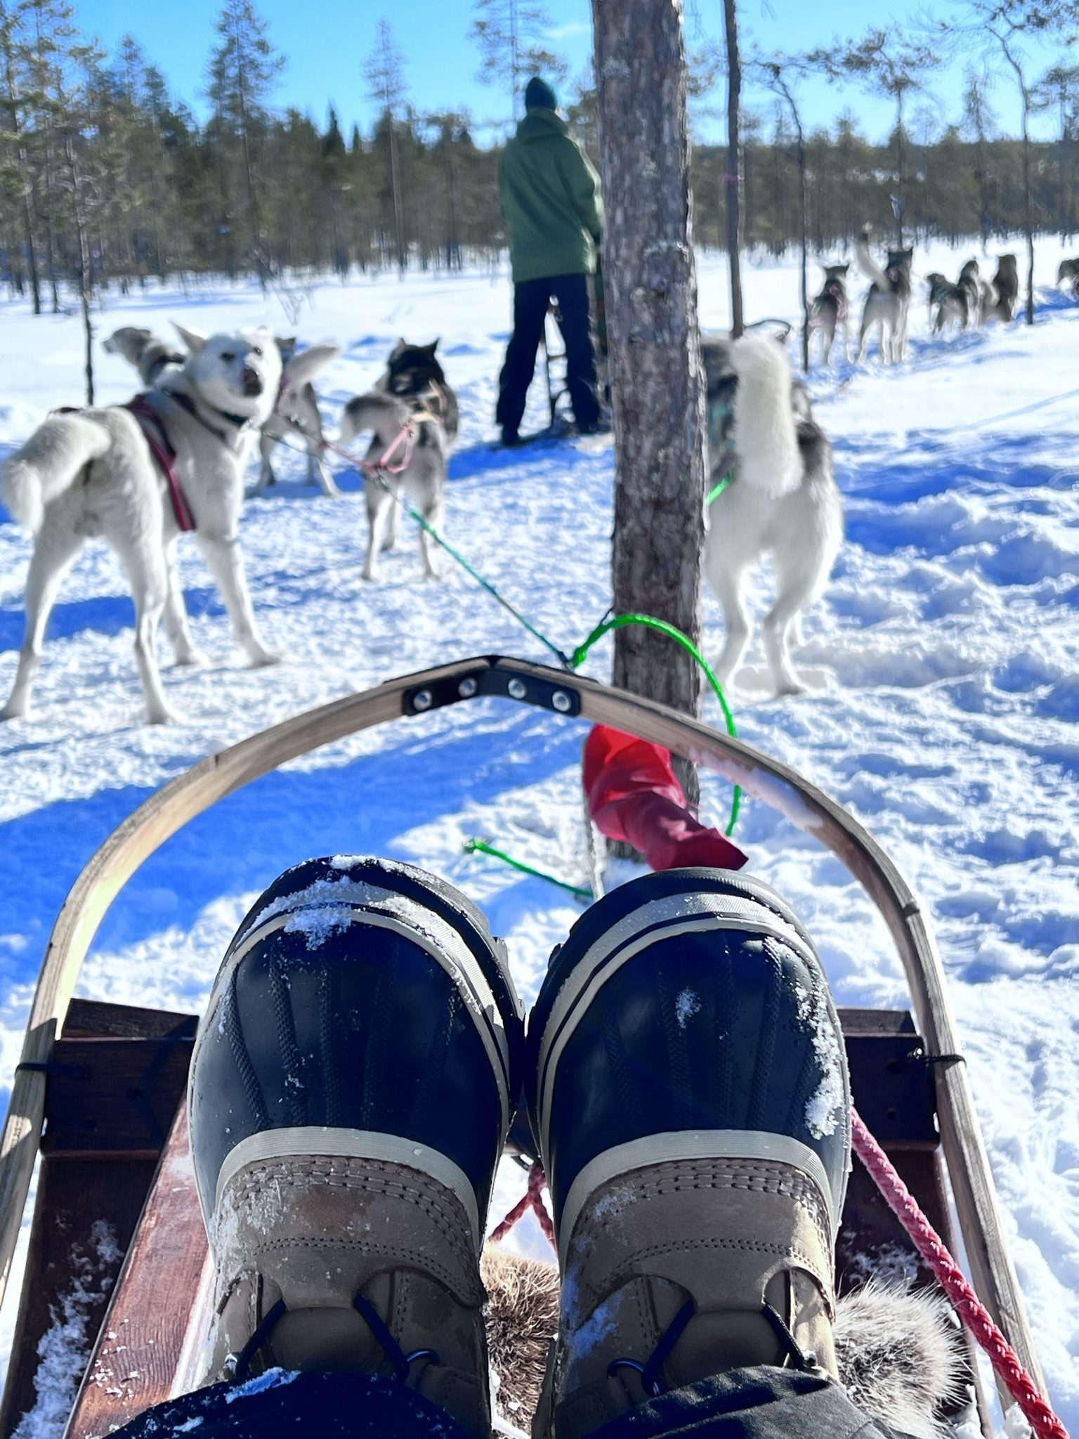
[[[849,1079],[767,885],[673,869],[593,905],[551,958],[525,1082],[563,1272],[535,1435],[728,1368],[836,1373]]]

